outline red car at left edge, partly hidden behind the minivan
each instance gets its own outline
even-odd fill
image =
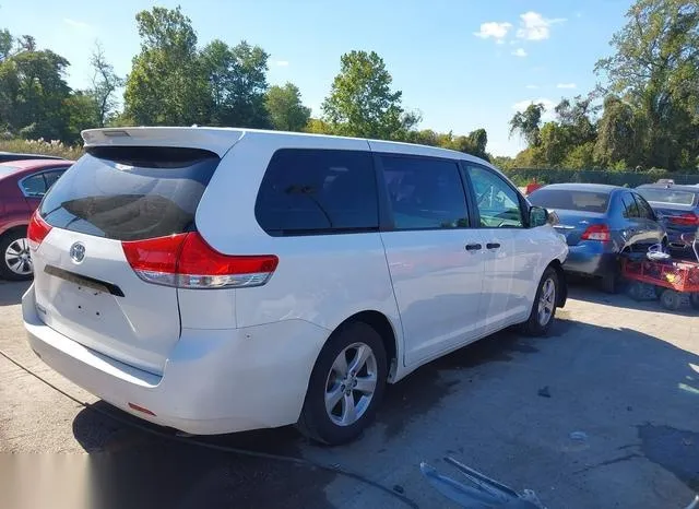
[[[23,159],[0,163],[0,277],[28,280],[34,271],[26,240],[29,216],[73,161]]]

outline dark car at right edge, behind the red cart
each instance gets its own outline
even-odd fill
[[[699,230],[699,186],[675,186],[672,180],[639,186],[667,232],[673,254],[694,258],[689,241]]]

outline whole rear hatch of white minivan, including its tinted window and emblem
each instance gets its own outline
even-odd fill
[[[177,284],[167,268],[196,232],[194,214],[218,163],[201,149],[88,147],[29,226],[42,320],[84,346],[162,374],[180,335]]]

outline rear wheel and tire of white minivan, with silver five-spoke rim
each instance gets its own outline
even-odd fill
[[[369,356],[353,376],[348,369],[359,352]],[[297,428],[311,440],[328,446],[354,440],[374,421],[383,396],[387,376],[386,348],[379,333],[364,322],[343,325],[330,336],[316,360]],[[376,383],[370,396],[360,389],[348,389],[352,383],[353,387],[365,386],[368,390],[372,378]],[[327,410],[325,400],[330,400],[331,395],[336,396],[336,402],[334,405],[331,402],[332,406]],[[352,404],[347,405],[348,401]],[[355,409],[354,418],[350,413],[351,407]],[[360,413],[358,416],[357,412]]]

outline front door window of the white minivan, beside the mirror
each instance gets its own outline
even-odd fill
[[[476,194],[482,227],[524,226],[519,196],[500,176],[481,166],[469,166],[469,175]]]

